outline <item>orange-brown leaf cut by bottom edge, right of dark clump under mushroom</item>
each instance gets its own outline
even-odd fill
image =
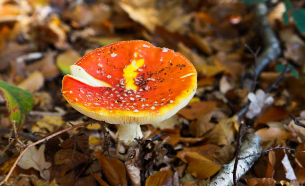
[[[155,172],[145,181],[145,186],[171,186],[172,177],[172,171]]]

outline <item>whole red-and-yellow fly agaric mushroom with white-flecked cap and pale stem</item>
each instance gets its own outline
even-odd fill
[[[62,93],[96,120],[120,124],[125,143],[142,138],[141,124],[161,122],[184,107],[197,88],[194,66],[181,54],[147,41],[110,44],[70,67]]]

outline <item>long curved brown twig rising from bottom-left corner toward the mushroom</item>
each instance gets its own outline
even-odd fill
[[[41,140],[39,140],[39,141],[36,141],[36,142],[34,142],[34,143],[28,145],[23,151],[21,151],[21,153],[19,154],[19,156],[18,156],[17,159],[15,160],[14,164],[11,166],[9,172],[8,172],[7,175],[5,176],[4,180],[3,180],[2,182],[0,182],[0,186],[2,186],[4,183],[7,182],[8,178],[9,178],[10,175],[11,175],[11,173],[12,173],[13,170],[15,169],[17,163],[19,162],[19,160],[21,159],[21,157],[24,155],[24,153],[25,153],[26,151],[29,150],[29,148],[31,148],[31,147],[33,147],[33,146],[35,146],[35,145],[37,145],[37,144],[43,143],[43,142],[45,142],[45,141],[47,141],[47,140],[49,140],[49,139],[51,139],[51,138],[53,138],[53,137],[55,137],[55,136],[57,136],[57,135],[59,135],[59,134],[62,134],[62,133],[64,133],[64,132],[67,132],[67,131],[69,131],[69,130],[72,130],[72,129],[77,128],[77,127],[80,127],[80,126],[88,125],[88,124],[90,124],[90,123],[92,123],[92,121],[90,121],[90,122],[85,122],[85,123],[80,123],[80,124],[75,125],[75,126],[72,126],[72,127],[70,127],[70,128],[63,129],[63,130],[61,130],[61,131],[58,131],[58,132],[56,132],[56,133],[54,133],[54,134],[51,134],[51,135],[49,135],[49,136],[47,136],[47,137],[45,137],[45,138],[43,138],[43,139],[41,139]]]

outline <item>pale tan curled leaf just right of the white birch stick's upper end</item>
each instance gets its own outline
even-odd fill
[[[288,131],[276,127],[262,128],[256,131],[255,134],[259,135],[263,141],[274,139],[287,140],[292,137]]]

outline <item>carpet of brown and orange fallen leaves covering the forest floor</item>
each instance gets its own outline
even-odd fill
[[[144,138],[118,153],[117,126],[94,122],[31,147],[18,162],[10,183],[24,186],[201,186],[235,157],[240,119],[263,140],[262,148],[304,151],[305,129],[290,117],[305,117],[304,34],[285,25],[283,2],[268,19],[279,36],[283,54],[269,63],[251,92],[240,85],[255,63],[246,49],[263,48],[254,7],[235,0],[5,0],[0,2],[1,150],[16,121],[24,144],[90,120],[61,95],[69,66],[95,48],[142,39],[188,58],[198,72],[198,89],[173,117],[142,126]],[[298,3],[294,2],[294,5]],[[298,23],[299,24],[299,23]],[[281,84],[277,65],[294,71]],[[25,92],[28,91],[28,92]],[[6,107],[5,107],[6,104]],[[301,123],[305,123],[300,120]],[[3,130],[4,131],[4,130]],[[36,138],[35,138],[36,139]],[[0,180],[22,149],[12,142],[0,160]],[[108,154],[109,153],[109,154]],[[263,154],[239,184],[302,186],[305,155],[275,150]],[[18,175],[23,175],[18,177]],[[24,176],[26,175],[26,176]],[[30,178],[27,178],[30,177]]]

